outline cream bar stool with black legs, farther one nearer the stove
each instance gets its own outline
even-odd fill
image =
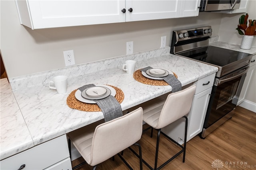
[[[143,108],[144,110],[143,121],[146,122],[148,125],[150,125],[150,127],[145,129],[144,131],[151,128],[151,137],[152,137],[153,128],[158,130],[154,168],[152,168],[145,160],[142,160],[151,170],[159,170],[160,168],[168,164],[171,160],[176,158],[182,152],[183,152],[183,162],[185,162],[186,137],[187,137],[187,127],[188,127],[188,118],[186,117],[186,115],[189,113],[191,109],[192,100],[193,100],[195,91],[196,91],[196,85],[193,85],[182,91],[171,93],[167,96],[164,102],[164,105],[162,106],[158,106],[155,103],[153,104],[145,103],[145,104],[136,106],[136,107]],[[156,105],[157,107],[152,108],[152,105]],[[172,138],[170,138],[169,136],[161,132],[161,128],[166,127],[167,125],[170,125],[171,123],[177,121],[182,117],[184,117],[186,120],[184,146],[180,145],[178,142],[176,142],[175,140],[173,140]],[[160,133],[162,133],[169,140],[171,140],[172,142],[180,146],[182,150],[180,150],[180,152],[178,152],[172,158],[167,160],[164,164],[157,167]]]

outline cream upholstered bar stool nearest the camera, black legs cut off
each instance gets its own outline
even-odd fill
[[[140,140],[142,135],[142,108],[138,108],[112,121],[99,125],[90,124],[67,135],[69,148],[71,148],[72,142],[84,160],[90,166],[94,166],[93,169],[96,169],[97,164],[116,154],[121,158],[122,156],[119,152]],[[139,147],[140,169],[142,169],[141,147],[139,144],[136,145]],[[131,169],[129,164],[125,160],[123,161]],[[82,164],[75,166],[73,169]]]

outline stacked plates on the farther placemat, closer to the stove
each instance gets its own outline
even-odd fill
[[[170,73],[172,72],[170,71]],[[162,80],[163,77],[168,76],[170,73],[165,69],[158,68],[148,69],[146,72],[142,71],[142,75],[144,75],[144,77],[156,80]]]

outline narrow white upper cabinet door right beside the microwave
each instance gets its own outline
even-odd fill
[[[200,0],[182,0],[180,17],[198,16]]]

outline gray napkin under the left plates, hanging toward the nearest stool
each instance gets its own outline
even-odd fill
[[[94,84],[84,85],[82,87],[79,87],[78,90],[82,92],[85,89],[93,86],[95,85]],[[116,119],[123,115],[121,105],[118,103],[116,98],[112,95],[109,95],[104,99],[93,100],[93,101],[95,101],[97,105],[100,107],[100,109],[102,110],[105,122],[111,121],[112,119]]]

